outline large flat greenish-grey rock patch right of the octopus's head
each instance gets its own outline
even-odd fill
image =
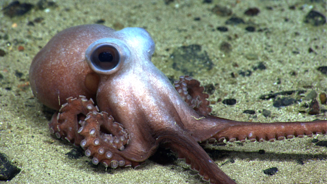
[[[170,57],[173,68],[185,74],[193,76],[211,70],[213,63],[206,51],[202,51],[200,45],[189,45],[176,48]]]

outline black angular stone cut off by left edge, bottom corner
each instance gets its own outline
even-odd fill
[[[0,153],[0,181],[9,181],[20,171],[20,168],[8,160],[7,155]]]

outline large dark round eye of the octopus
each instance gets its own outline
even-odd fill
[[[120,55],[115,47],[104,44],[93,50],[90,61],[96,69],[110,71],[119,64]]]

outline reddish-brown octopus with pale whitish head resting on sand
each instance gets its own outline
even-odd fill
[[[34,57],[34,96],[56,110],[49,130],[81,146],[93,164],[138,167],[158,146],[171,149],[210,183],[236,183],[199,142],[275,141],[326,134],[327,121],[240,122],[209,115],[198,80],[174,84],[151,62],[142,28],[81,25],[56,34]],[[96,101],[94,101],[94,100]]]

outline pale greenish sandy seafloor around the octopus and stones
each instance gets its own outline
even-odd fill
[[[8,2],[1,1],[0,6],[4,7]],[[212,60],[213,68],[195,72],[193,77],[203,85],[215,84],[216,90],[210,101],[219,98],[237,100],[234,106],[221,102],[211,105],[213,115],[253,122],[326,119],[325,113],[313,116],[299,113],[307,111],[303,105],[309,101],[275,108],[272,100],[259,99],[270,91],[305,89],[304,96],[311,90],[318,94],[326,91],[326,75],[316,69],[327,65],[326,24],[315,27],[303,21],[310,10],[326,15],[326,2],[315,2],[213,1],[203,4],[202,1],[175,0],[165,5],[163,1],[83,0],[55,1],[57,7],[32,9],[22,17],[9,18],[0,12],[0,49],[7,53],[0,57],[0,73],[4,76],[0,79],[0,152],[7,154],[22,169],[11,181],[0,183],[207,183],[183,160],[168,165],[147,160],[137,169],[108,168],[106,171],[103,166],[94,168],[85,156],[69,159],[65,154],[73,146],[50,135],[42,104],[33,98],[30,87],[25,86],[31,61],[58,31],[93,24],[101,19],[105,20],[104,25],[116,29],[146,28],[156,44],[152,62],[171,78],[188,74],[173,69],[170,55],[174,49],[201,45]],[[241,17],[247,24],[225,25],[230,16],[220,17],[210,11],[216,4],[228,7],[233,15]],[[292,5],[295,5],[295,10],[289,9]],[[258,16],[244,16],[244,11],[251,7],[261,11]],[[41,23],[27,25],[39,17],[44,18]],[[201,20],[195,21],[197,17]],[[257,30],[267,29],[248,32],[245,28],[249,25]],[[219,32],[217,26],[226,26],[229,30]],[[4,39],[5,35],[8,35],[7,39]],[[230,43],[231,52],[224,53],[219,49],[223,41]],[[20,45],[24,51],[18,51]],[[308,52],[310,47],[314,52]],[[257,58],[249,60],[247,56],[252,55]],[[253,71],[253,66],[259,62],[263,62],[267,69]],[[239,70],[247,69],[253,71],[251,76],[231,77],[231,72],[237,74]],[[23,75],[19,78],[16,71]],[[291,74],[293,71],[296,75]],[[318,102],[322,109],[326,109],[326,105]],[[256,115],[242,113],[248,109],[255,110]],[[265,118],[259,112],[263,109],[271,111],[271,116]],[[313,138],[327,140],[325,135],[314,135],[273,143],[226,143],[227,146],[215,149],[231,152],[215,159],[215,163],[237,183],[327,183],[327,148],[316,146],[311,142]],[[260,149],[264,149],[266,154],[258,154]],[[234,159],[233,163],[228,162],[231,159]],[[272,176],[264,174],[263,170],[270,167],[277,167],[278,173]]]

